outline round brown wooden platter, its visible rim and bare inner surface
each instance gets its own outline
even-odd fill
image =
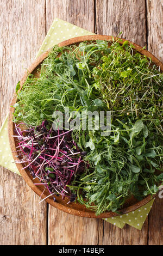
[[[116,38],[114,38],[113,36],[106,36],[106,35],[79,36],[76,38],[72,38],[72,39],[63,41],[59,44],[59,46],[68,46],[71,44],[78,44],[79,42],[82,42],[82,41],[92,41],[92,40],[107,40],[107,41],[110,41],[109,44],[111,44],[111,42],[113,40],[116,40]],[[121,39],[120,43],[123,44],[124,41],[126,41],[126,40]],[[157,58],[155,58],[150,52],[142,49],[141,46],[136,45],[133,42],[129,41],[129,44],[133,44],[134,49],[136,51],[147,56],[148,58],[151,58],[152,62],[154,64],[156,64],[157,66],[160,66],[160,70],[163,71],[163,64]],[[35,61],[32,63],[32,65],[30,65],[29,69],[25,72],[25,74],[20,82],[21,88],[29,74],[34,74],[35,77],[39,77],[39,72],[37,72],[37,70],[40,68],[40,65],[43,62],[43,60],[48,56],[49,51],[42,53],[41,56],[38,57],[37,59],[35,59]],[[21,88],[20,88],[20,90],[21,90]],[[16,101],[17,101],[17,95],[15,93],[13,96],[12,102],[11,102],[11,106],[14,106]],[[9,123],[8,123],[9,142],[10,142],[10,147],[11,147],[11,151],[12,151],[14,160],[18,160],[17,153],[16,153],[17,142],[16,142],[15,137],[13,137],[13,135],[14,135],[14,123],[12,122],[13,113],[14,113],[14,107],[11,107],[10,112],[9,112]],[[16,163],[16,166],[17,166],[18,170],[20,171],[23,179],[27,182],[27,184],[32,188],[32,190],[35,193],[37,193],[41,198],[45,198],[49,195],[48,191],[45,190],[45,192],[43,192],[43,189],[44,189],[43,186],[34,185],[34,182],[35,183],[39,182],[39,179],[37,181],[36,181],[36,179],[35,179],[35,181],[33,181],[33,177],[32,177],[32,175],[30,175],[30,172],[28,169],[22,169],[24,166],[21,163]],[[118,214],[116,214],[115,212],[111,212],[111,211],[104,212],[103,214],[96,216],[95,212],[86,209],[86,207],[84,205],[81,205],[79,203],[67,204],[68,199],[62,200],[60,196],[56,197],[56,199],[57,199],[56,202],[54,202],[52,197],[48,197],[46,199],[46,202],[61,211],[67,212],[68,214],[77,215],[77,216],[81,216],[81,217],[89,217],[89,218],[109,218],[109,217],[118,216]],[[120,213],[122,215],[122,214],[127,214],[128,212],[131,212],[131,211],[135,211],[136,209],[140,208],[141,206],[147,204],[150,200],[152,200],[151,196],[147,196],[140,202],[137,202],[137,200],[135,198],[130,198],[129,200],[127,200],[126,204],[123,205],[123,208],[120,210]]]

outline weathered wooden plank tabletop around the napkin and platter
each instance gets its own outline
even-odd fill
[[[0,13],[0,124],[55,17],[96,34],[122,32],[163,62],[163,0],[1,0]],[[163,199],[156,198],[141,231],[120,229],[38,204],[21,176],[5,168],[0,177],[0,245],[163,244]]]

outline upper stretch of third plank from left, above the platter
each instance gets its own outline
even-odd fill
[[[146,46],[145,0],[96,0],[96,33]]]

